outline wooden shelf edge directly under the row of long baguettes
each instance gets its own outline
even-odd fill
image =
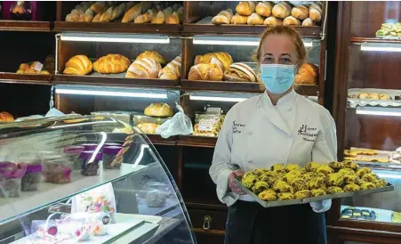
[[[134,24],[134,23],[92,23],[55,21],[53,31],[56,32],[96,32],[96,33],[148,33],[179,35],[180,25],[168,24]]]

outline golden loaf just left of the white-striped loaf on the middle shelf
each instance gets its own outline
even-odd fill
[[[220,66],[213,63],[199,63],[191,67],[188,73],[188,80],[212,80],[220,81],[223,78],[223,71]]]

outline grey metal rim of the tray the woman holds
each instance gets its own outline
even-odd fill
[[[357,191],[357,192],[341,192],[341,193],[334,193],[334,194],[327,194],[325,196],[319,196],[309,199],[293,199],[293,200],[277,200],[277,201],[264,201],[260,199],[256,194],[246,188],[242,183],[240,183],[237,179],[234,179],[234,182],[237,183],[238,188],[244,191],[246,194],[251,196],[252,199],[257,201],[261,204],[262,207],[280,207],[280,206],[287,206],[287,205],[297,205],[297,204],[304,204],[309,203],[312,201],[318,200],[325,200],[325,199],[342,199],[342,198],[349,198],[354,195],[368,195],[378,192],[384,191],[394,191],[394,186],[390,183],[386,187],[376,188],[372,190],[365,190],[365,191]]]

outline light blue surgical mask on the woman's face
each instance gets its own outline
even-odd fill
[[[261,81],[272,94],[284,94],[295,77],[296,65],[261,64]]]

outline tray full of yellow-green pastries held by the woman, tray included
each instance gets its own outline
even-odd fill
[[[249,171],[236,181],[242,191],[263,207],[394,191],[394,186],[374,174],[371,168],[359,167],[352,161],[328,165],[309,162],[303,168],[277,164],[270,169]]]

